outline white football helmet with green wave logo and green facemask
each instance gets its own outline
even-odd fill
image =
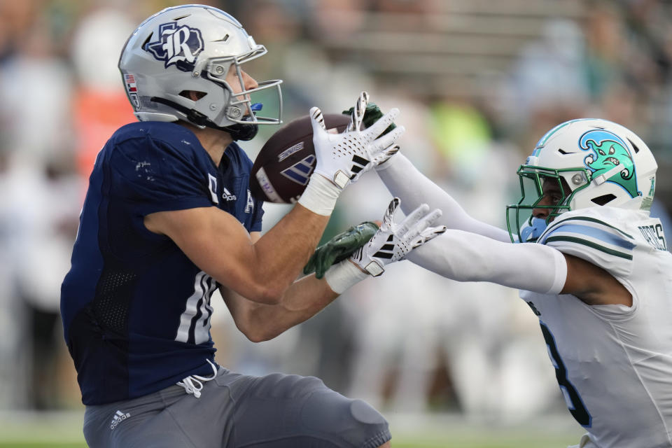
[[[642,139],[607,120],[582,118],[557,125],[542,137],[518,169],[522,197],[507,207],[512,240],[531,241],[547,223],[569,210],[621,207],[649,210],[658,165]],[[542,183],[556,180],[562,193],[556,204],[538,205]],[[549,209],[539,222],[533,209]],[[528,232],[522,232],[527,228]],[[530,232],[531,231],[531,232]]]

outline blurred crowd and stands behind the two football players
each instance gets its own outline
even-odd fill
[[[0,409],[76,409],[60,283],[87,178],[135,120],[117,62],[134,28],[179,1],[0,0]],[[340,112],[361,90],[401,110],[402,152],[477,218],[505,225],[518,165],[571,118],[616,121],[659,162],[653,214],[672,207],[672,2],[228,0],[269,52],[284,121]],[[253,157],[276,128],[244,144]],[[375,174],[339,200],[325,237],[379,219]],[[269,228],[287,207],[267,204]],[[668,231],[670,227],[667,226]],[[252,344],[218,297],[216,359],[251,374],[314,374],[383,411],[506,421],[562,409],[537,319],[517,292],[388,267],[280,337]],[[568,416],[568,418],[570,418]]]

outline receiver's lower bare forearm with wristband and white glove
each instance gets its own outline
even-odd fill
[[[330,267],[322,279],[309,275],[296,281],[278,304],[254,303],[223,289],[222,296],[239,330],[255,342],[272,339],[314,316],[350,286],[370,275],[380,275],[385,265],[405,258],[414,248],[445,231],[442,226],[430,227],[440,211],[430,212],[426,204],[395,223],[398,204],[395,198],[381,227],[351,258]]]

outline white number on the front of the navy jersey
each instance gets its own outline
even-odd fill
[[[184,312],[180,316],[176,341],[202,344],[210,340],[210,296],[216,286],[214,279],[205,272],[196,274],[194,293],[187,299]]]

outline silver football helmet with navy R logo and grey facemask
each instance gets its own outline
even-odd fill
[[[256,125],[282,123],[282,80],[263,81],[234,95],[225,78],[230,69],[236,70],[244,89],[239,66],[266,52],[223,10],[174,6],[133,32],[121,52],[119,69],[139,120],[186,120],[248,140],[256,134]],[[190,99],[189,91],[200,92],[200,97]],[[264,100],[274,113],[260,116],[262,103],[253,99]]]

